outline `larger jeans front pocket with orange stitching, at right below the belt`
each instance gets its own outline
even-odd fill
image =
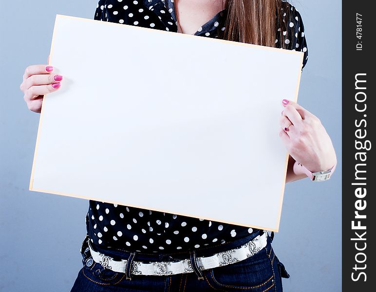
[[[205,276],[214,289],[229,292],[242,289],[263,292],[275,285],[273,269],[265,249],[240,262],[207,270]]]

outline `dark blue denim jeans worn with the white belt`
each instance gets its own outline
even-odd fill
[[[230,250],[243,245],[257,235],[227,242],[215,247],[195,250],[194,256],[211,256],[214,253]],[[132,275],[113,272],[95,263],[87,249],[85,240],[82,245],[83,268],[79,271],[71,292],[202,292],[202,291],[251,291],[281,292],[282,277],[289,274],[274,254],[271,246],[272,237],[267,238],[267,245],[254,256],[237,263],[201,270],[199,273],[176,275]],[[134,261],[172,261],[189,258],[192,253],[140,254],[119,249],[101,249],[96,251],[115,260],[132,258]]]

